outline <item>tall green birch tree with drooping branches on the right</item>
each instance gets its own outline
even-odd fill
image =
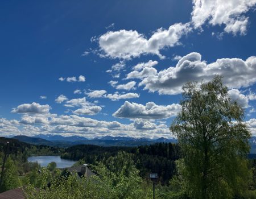
[[[232,198],[247,185],[250,131],[243,109],[222,77],[183,86],[181,111],[170,130],[183,154],[182,177],[192,198]]]

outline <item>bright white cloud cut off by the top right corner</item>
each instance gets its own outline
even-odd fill
[[[225,32],[246,34],[249,18],[245,13],[253,8],[256,0],[193,0],[192,23],[200,28],[204,23],[224,25]]]

